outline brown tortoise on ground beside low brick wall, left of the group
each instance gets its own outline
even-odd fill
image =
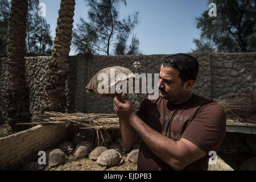
[[[67,155],[59,148],[46,151],[47,164],[49,167],[54,167],[59,164],[64,164]]]

